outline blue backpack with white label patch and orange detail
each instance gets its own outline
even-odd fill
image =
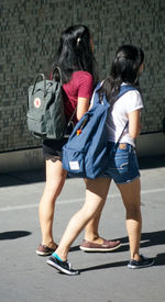
[[[108,166],[107,127],[105,125],[110,103],[106,100],[106,96],[100,101],[99,88],[100,83],[94,91],[92,108],[76,124],[68,142],[63,147],[63,168],[72,177],[95,179]],[[135,88],[121,86],[118,99],[130,90],[135,90]]]

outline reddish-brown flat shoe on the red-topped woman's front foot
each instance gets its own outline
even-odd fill
[[[103,239],[102,244],[95,244],[87,241],[82,241],[79,248],[84,251],[111,251],[121,246],[119,241],[110,242]]]

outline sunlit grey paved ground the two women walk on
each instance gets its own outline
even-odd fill
[[[143,233],[141,253],[156,257],[154,267],[132,271],[124,209],[114,184],[100,223],[106,238],[120,238],[119,251],[87,254],[77,238],[69,260],[81,273],[68,277],[35,255],[40,243],[38,200],[44,171],[0,175],[0,302],[164,302],[165,301],[165,158],[140,159]],[[59,241],[69,217],[84,202],[80,179],[67,179],[56,205],[54,234]]]

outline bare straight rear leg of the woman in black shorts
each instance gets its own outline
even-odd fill
[[[38,215],[42,232],[42,244],[55,248],[53,239],[53,219],[55,201],[61,193],[67,172],[62,167],[62,161],[46,160],[46,184],[40,201]]]

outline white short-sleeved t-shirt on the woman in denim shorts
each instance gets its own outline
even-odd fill
[[[110,110],[107,119],[106,125],[108,131],[108,141],[117,143],[129,120],[128,113],[142,108],[143,101],[138,90],[128,91],[121,98],[119,98],[114,102],[112,111]],[[134,139],[129,134],[129,125],[122,134],[120,143],[129,143],[132,146],[135,146]]]

